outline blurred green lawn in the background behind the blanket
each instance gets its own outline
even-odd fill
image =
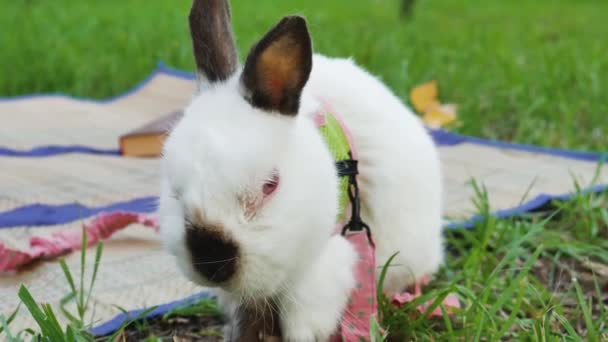
[[[437,79],[463,133],[545,146],[608,144],[604,0],[234,0],[241,58],[286,14],[306,15],[315,49],[353,56],[407,100]],[[0,95],[103,98],[163,60],[192,70],[189,1],[0,0]]]

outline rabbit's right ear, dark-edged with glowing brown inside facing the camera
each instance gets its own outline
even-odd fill
[[[244,96],[254,107],[295,116],[311,69],[306,21],[285,17],[251,49],[241,75]]]

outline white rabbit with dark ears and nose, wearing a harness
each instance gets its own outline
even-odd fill
[[[441,174],[418,117],[351,60],[313,55],[302,17],[285,17],[244,66],[226,0],[195,0],[190,25],[199,90],[164,145],[160,226],[182,272],[217,290],[230,329],[272,305],[285,340],[326,340],[354,287],[356,252],[334,234],[337,171],[312,119],[319,97],[352,133],[378,267],[399,252],[385,292],[432,275]]]

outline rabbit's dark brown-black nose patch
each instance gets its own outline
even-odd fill
[[[192,266],[214,283],[230,279],[237,269],[238,246],[221,230],[189,228],[186,245],[192,257]]]

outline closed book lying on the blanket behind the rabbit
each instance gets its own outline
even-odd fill
[[[131,157],[158,157],[167,133],[181,119],[182,111],[175,111],[120,136],[120,153]]]

